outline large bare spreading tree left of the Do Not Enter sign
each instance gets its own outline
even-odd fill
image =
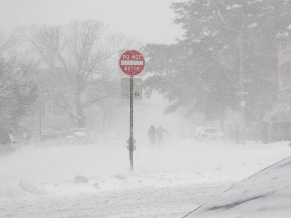
[[[117,68],[112,59],[118,50],[132,43],[122,35],[106,35],[100,21],[72,21],[64,26],[31,26],[18,28],[24,42],[32,45],[49,68],[39,82],[52,92],[51,100],[70,115],[78,127],[85,126],[84,109],[104,98],[116,96],[114,83]],[[49,87],[49,88],[47,88]],[[52,91],[53,89],[53,91]],[[96,90],[90,94],[90,90]]]

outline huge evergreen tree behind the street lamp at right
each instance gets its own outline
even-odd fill
[[[177,45],[147,45],[147,93],[158,90],[170,101],[224,118],[239,108],[240,49],[248,119],[261,119],[277,90],[277,49],[289,34],[291,1],[196,0],[173,3],[175,23],[185,29]],[[242,47],[240,44],[242,43]],[[169,58],[170,57],[170,58]]]

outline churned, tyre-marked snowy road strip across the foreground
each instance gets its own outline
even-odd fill
[[[182,217],[225,188],[216,183],[64,196],[18,193],[23,196],[17,200],[2,198],[1,217]]]

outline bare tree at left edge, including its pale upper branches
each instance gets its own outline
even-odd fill
[[[27,115],[35,101],[37,86],[27,80],[31,64],[18,60],[15,49],[18,39],[14,34],[0,32],[0,123],[1,127],[17,124]]]

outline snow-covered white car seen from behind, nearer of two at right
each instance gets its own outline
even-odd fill
[[[203,127],[198,136],[199,142],[209,141],[225,141],[226,135],[223,130],[218,127]]]

